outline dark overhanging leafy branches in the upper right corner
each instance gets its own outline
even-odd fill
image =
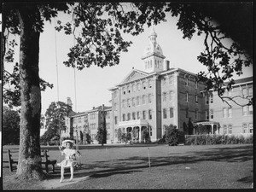
[[[250,4],[203,3],[199,6],[197,3],[169,3],[167,7],[172,16],[179,16],[177,28],[183,32],[183,38],[191,39],[195,32],[199,36],[205,35],[205,49],[197,57],[208,71],[198,73],[198,79],[206,83],[205,90],[217,91],[224,102],[226,99],[235,101],[224,96],[224,91],[235,84],[234,73],[241,75],[243,66],[252,65],[253,15]],[[229,16],[227,10],[230,11]],[[215,20],[219,21],[218,24]],[[241,34],[236,28],[246,30]],[[235,40],[232,44],[229,43],[230,38]],[[253,104],[253,99],[247,98],[247,103]]]

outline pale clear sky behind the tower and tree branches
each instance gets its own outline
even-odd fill
[[[71,20],[71,18],[59,15],[56,20]],[[171,66],[191,73],[206,71],[206,67],[197,61],[197,56],[204,49],[203,37],[195,34],[191,40],[183,39],[183,34],[177,30],[176,23],[177,18],[171,17],[170,14],[167,15],[166,22],[154,26],[154,31],[157,33],[156,40],[166,60],[170,61]],[[111,91],[108,89],[125,79],[132,67],[143,70],[141,57],[148,45],[150,32],[147,26],[138,36],[124,36],[125,40],[131,40],[133,44],[128,48],[128,52],[120,55],[119,65],[104,68],[91,66],[82,71],[64,66],[63,61],[67,61],[67,53],[73,45],[73,36],[65,35],[64,32],[55,32],[54,26],[55,20],[51,23],[45,22],[39,42],[39,76],[54,84],[53,89],[47,88],[42,91],[42,114],[46,112],[51,102],[67,102],[67,97],[71,97],[75,112],[87,111],[102,104],[111,106]],[[253,76],[252,67],[246,67],[244,74],[234,79],[249,76]]]

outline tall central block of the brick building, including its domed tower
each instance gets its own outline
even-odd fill
[[[197,81],[194,73],[174,68],[157,43],[157,34],[149,34],[149,44],[143,53],[144,71],[132,69],[125,79],[112,91],[113,130],[141,132],[148,127],[151,141],[165,134],[165,125],[183,125],[191,121],[205,120],[209,105],[201,93],[204,85]]]

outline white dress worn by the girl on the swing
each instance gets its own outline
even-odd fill
[[[77,157],[79,157],[79,154],[75,149],[65,148],[63,151],[61,151],[61,154],[65,154],[65,160],[62,160],[61,163],[57,163],[58,166],[69,167],[77,165]]]

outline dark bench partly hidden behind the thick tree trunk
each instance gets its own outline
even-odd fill
[[[52,171],[55,172],[55,164],[57,160],[48,160],[49,155],[47,154],[48,150],[41,150],[41,157],[42,157],[42,162],[41,164],[44,164],[45,166],[45,171],[48,173],[49,168],[48,166],[52,166]],[[5,163],[9,163],[9,171],[13,172],[14,171],[14,164],[18,165],[18,160],[13,160],[12,159],[12,154],[10,152],[10,149],[8,149],[8,160],[3,160]]]

